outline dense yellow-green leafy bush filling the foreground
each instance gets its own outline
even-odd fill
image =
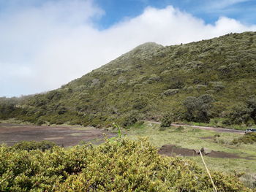
[[[218,191],[252,191],[212,172]],[[0,191],[213,191],[192,161],[164,158],[145,139],[51,150],[0,146]]]

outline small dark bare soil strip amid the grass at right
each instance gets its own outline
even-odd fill
[[[176,145],[163,145],[159,148],[159,154],[161,155],[167,155],[167,156],[197,156],[200,155],[195,152],[195,150],[187,149],[187,148],[181,148],[176,147]],[[252,157],[241,157],[239,155],[236,155],[234,153],[226,153],[222,151],[214,151],[212,150],[211,153],[205,154],[208,157],[212,158],[244,158],[252,160]]]

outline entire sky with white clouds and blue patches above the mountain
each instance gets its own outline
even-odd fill
[[[0,0],[0,97],[50,91],[144,42],[256,31],[256,0]]]

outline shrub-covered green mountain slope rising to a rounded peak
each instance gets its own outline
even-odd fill
[[[256,32],[167,47],[148,42],[59,89],[0,99],[0,118],[128,126],[167,114],[254,124],[255,77]]]

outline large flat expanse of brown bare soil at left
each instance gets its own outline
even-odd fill
[[[6,143],[11,146],[20,141],[43,141],[55,142],[64,147],[78,145],[80,141],[99,143],[105,137],[113,137],[116,134],[96,128],[69,128],[67,126],[32,126],[0,123],[0,144]]]

